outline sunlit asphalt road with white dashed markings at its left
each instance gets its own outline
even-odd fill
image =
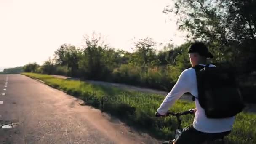
[[[159,142],[79,102],[24,75],[0,75],[0,144]]]

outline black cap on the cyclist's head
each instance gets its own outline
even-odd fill
[[[192,45],[189,47],[188,53],[199,53],[200,56],[213,58],[213,55],[208,51],[207,46],[201,42],[192,43]]]

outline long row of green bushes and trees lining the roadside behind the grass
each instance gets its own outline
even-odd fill
[[[41,67],[37,66],[33,72],[170,91],[181,72],[191,67],[187,53],[191,42],[180,46],[168,44],[164,46],[164,51],[157,53],[155,42],[150,38],[145,38],[135,43],[133,53],[128,53],[121,50],[115,51],[114,48],[109,48],[100,40],[100,37],[85,37],[86,44],[83,45],[83,50],[64,44],[57,49],[55,61],[48,59]],[[211,45],[217,47],[218,44],[212,43]],[[217,50],[211,52],[217,53]],[[228,61],[229,53],[224,56]],[[218,57],[210,62],[226,63]],[[228,62],[228,64],[234,65],[232,62]],[[246,89],[254,89],[254,87],[243,86],[242,92],[246,101],[255,101],[256,97],[248,96]]]

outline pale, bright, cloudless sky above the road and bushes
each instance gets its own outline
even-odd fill
[[[80,46],[101,33],[114,48],[131,51],[133,38],[170,39],[184,34],[162,13],[171,0],[0,0],[0,67],[42,64],[61,44]]]

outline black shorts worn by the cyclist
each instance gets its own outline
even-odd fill
[[[231,131],[222,133],[203,133],[197,131],[193,125],[189,125],[183,129],[181,135],[175,140],[175,144],[202,144],[205,141],[213,141],[221,139],[223,136],[229,135]]]

